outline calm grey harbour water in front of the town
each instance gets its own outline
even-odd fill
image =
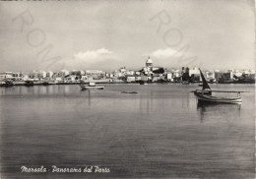
[[[254,92],[241,105],[198,106],[189,92],[197,85],[104,86],[1,88],[1,178],[254,178]],[[23,165],[110,173],[22,173]]]

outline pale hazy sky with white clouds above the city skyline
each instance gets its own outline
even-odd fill
[[[253,0],[1,1],[0,71],[254,69]]]

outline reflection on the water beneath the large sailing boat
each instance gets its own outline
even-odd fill
[[[203,123],[213,115],[224,117],[226,120],[240,116],[241,103],[205,103],[197,102],[197,111],[200,121]]]

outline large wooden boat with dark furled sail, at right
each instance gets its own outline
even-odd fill
[[[194,90],[194,94],[197,96],[199,103],[241,103],[242,102],[240,92],[245,92],[245,91],[212,90],[209,87],[201,70],[200,70],[200,75],[203,81],[203,88]],[[212,95],[212,92],[236,92],[237,96],[236,97],[218,97],[218,96]]]

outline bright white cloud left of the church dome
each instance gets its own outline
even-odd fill
[[[97,50],[91,50],[91,51],[85,51],[85,52],[79,52],[74,55],[75,58],[80,60],[102,60],[102,58],[112,54],[113,52],[106,49],[106,48],[100,48]]]

